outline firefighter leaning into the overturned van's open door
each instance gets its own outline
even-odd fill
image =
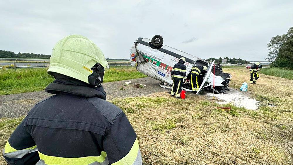
[[[190,76],[190,84],[191,84],[191,88],[193,93],[197,93],[199,87],[200,87],[200,75],[204,74],[204,72],[207,70],[206,66],[198,66],[195,65],[192,68],[191,71],[191,76]]]

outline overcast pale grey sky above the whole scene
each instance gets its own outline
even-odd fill
[[[91,39],[106,58],[130,59],[139,38],[197,57],[264,60],[267,43],[293,26],[293,1],[0,0],[0,50],[51,54],[70,34]]]

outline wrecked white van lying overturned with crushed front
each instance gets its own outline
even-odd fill
[[[184,57],[186,59],[185,65],[187,71],[187,79],[190,79],[190,73],[193,66],[207,66],[207,73],[202,77],[203,82],[200,86],[200,90],[211,89],[211,87],[213,86],[212,66],[214,62],[209,63],[199,57],[195,57],[167,45],[163,45],[163,38],[160,39],[152,39],[154,42],[161,41],[161,45],[159,47],[156,47],[151,43],[150,39],[138,38],[134,42],[130,50],[130,62],[132,67],[136,66],[137,71],[154,79],[162,81],[160,84],[161,87],[171,89],[171,85],[173,82],[173,80],[171,79],[171,70],[173,69],[173,66],[179,62],[179,59],[181,57]],[[225,93],[229,86],[230,74],[223,73],[221,66],[219,66],[215,69],[215,75],[215,89],[217,89],[216,92]],[[189,92],[192,91],[189,82],[183,84],[182,89],[185,89]],[[197,92],[197,94],[200,92],[200,90]]]

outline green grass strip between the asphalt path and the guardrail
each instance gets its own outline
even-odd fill
[[[0,69],[0,95],[44,90],[54,78],[46,73],[46,68]],[[146,77],[135,67],[117,66],[107,69],[104,82]]]

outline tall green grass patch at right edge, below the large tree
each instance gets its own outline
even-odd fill
[[[293,70],[284,68],[263,68],[260,70],[260,73],[293,80]]]

